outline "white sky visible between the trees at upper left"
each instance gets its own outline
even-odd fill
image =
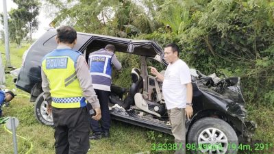
[[[16,9],[17,5],[16,3],[13,3],[12,0],[6,0],[7,1],[7,11],[9,12],[11,8]],[[0,13],[3,13],[3,0],[0,0]],[[39,38],[40,36],[42,36],[42,34],[44,34],[45,31],[45,27],[49,27],[49,23],[51,23],[52,19],[49,18],[46,14],[45,14],[45,9],[44,8],[40,8],[40,14],[38,16],[38,21],[39,21],[39,27],[38,27],[38,31],[36,31],[33,35],[32,38]],[[3,25],[1,25],[0,23],[0,29],[3,29]]]

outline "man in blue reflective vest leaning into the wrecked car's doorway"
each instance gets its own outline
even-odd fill
[[[108,101],[110,95],[110,85],[112,82],[112,65],[116,70],[121,70],[122,66],[114,54],[115,47],[112,44],[105,46],[105,49],[100,49],[90,53],[88,64],[90,66],[90,75],[92,78],[92,85],[98,96],[102,120],[101,127],[97,120],[91,120],[90,126],[92,128],[92,136],[90,140],[98,140],[110,137],[110,111],[108,109]]]

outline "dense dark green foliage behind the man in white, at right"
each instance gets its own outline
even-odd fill
[[[190,66],[206,74],[239,76],[248,103],[274,106],[273,2],[196,1],[179,14],[182,27],[144,38],[179,42]]]

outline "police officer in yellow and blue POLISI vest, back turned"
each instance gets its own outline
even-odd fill
[[[101,110],[92,88],[85,57],[73,51],[77,33],[69,26],[57,29],[57,49],[42,59],[43,97],[48,102],[48,112],[53,115],[56,154],[84,154],[90,148],[88,111],[91,103],[99,120]],[[52,106],[52,107],[51,107]]]

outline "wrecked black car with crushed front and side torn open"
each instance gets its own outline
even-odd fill
[[[47,114],[47,102],[42,97],[40,64],[42,57],[57,47],[55,35],[55,29],[48,29],[29,47],[16,81],[17,88],[30,93],[30,101],[35,102],[35,116],[44,125],[53,125],[53,121]],[[132,68],[129,88],[112,85],[109,103],[111,118],[171,134],[162,97],[162,83],[149,75],[148,68],[151,62],[167,66],[162,47],[151,40],[77,33],[74,50],[81,51],[88,60],[89,53],[106,44],[113,44],[116,52],[138,55],[141,64],[139,68]],[[256,124],[246,119],[240,78],[219,78],[214,74],[206,76],[195,69],[191,69],[191,75],[194,113],[190,120],[186,120],[187,142],[194,143],[196,149],[200,144],[218,143],[221,146],[221,149],[203,146],[199,148],[201,153],[235,153],[234,149],[229,149],[229,144],[250,141],[256,129]]]

